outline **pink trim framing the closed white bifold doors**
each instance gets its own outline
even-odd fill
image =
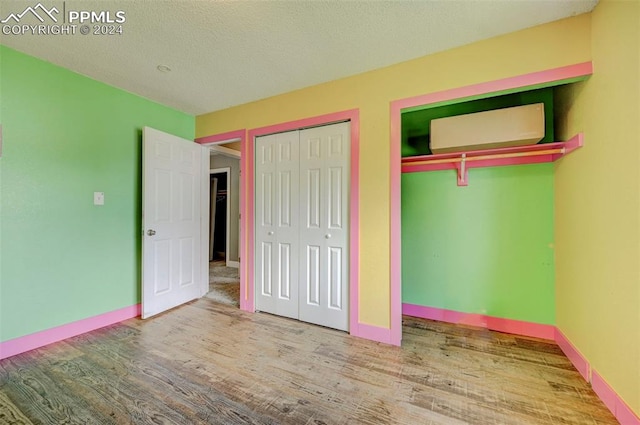
[[[247,279],[245,279],[244,287],[240,286],[241,293],[244,290],[248,292],[247,299],[244,303],[241,301],[240,307],[246,311],[255,311],[254,305],[254,148],[255,138],[267,134],[282,133],[285,131],[296,130],[299,128],[313,127],[325,124],[331,124],[341,121],[351,121],[351,188],[350,188],[350,234],[349,234],[349,331],[352,335],[360,335],[359,308],[360,308],[360,112],[358,109],[335,112],[327,115],[304,118],[301,120],[290,121],[260,127],[249,130],[246,140],[246,149],[243,149],[243,159],[245,168],[242,175],[245,176],[244,187],[246,190],[246,208],[243,210],[242,216],[244,228],[247,229],[243,239],[246,241],[247,249],[245,258],[247,261]],[[244,154],[246,152],[246,155]]]

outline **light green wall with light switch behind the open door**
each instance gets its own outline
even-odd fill
[[[4,46],[0,58],[7,341],[140,302],[142,128],[193,139],[195,118]]]

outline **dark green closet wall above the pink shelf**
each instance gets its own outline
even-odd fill
[[[402,156],[429,155],[431,120],[474,112],[503,109],[512,106],[544,103],[545,136],[539,143],[555,142],[553,116],[554,87],[540,88],[518,93],[494,95],[491,97],[458,101],[457,103],[433,106],[403,112],[402,114]]]

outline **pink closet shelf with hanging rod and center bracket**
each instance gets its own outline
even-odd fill
[[[583,138],[583,133],[578,133],[566,142],[409,156],[402,158],[402,172],[456,170],[458,173],[458,186],[467,186],[469,183],[467,176],[469,168],[554,162],[582,147]]]

